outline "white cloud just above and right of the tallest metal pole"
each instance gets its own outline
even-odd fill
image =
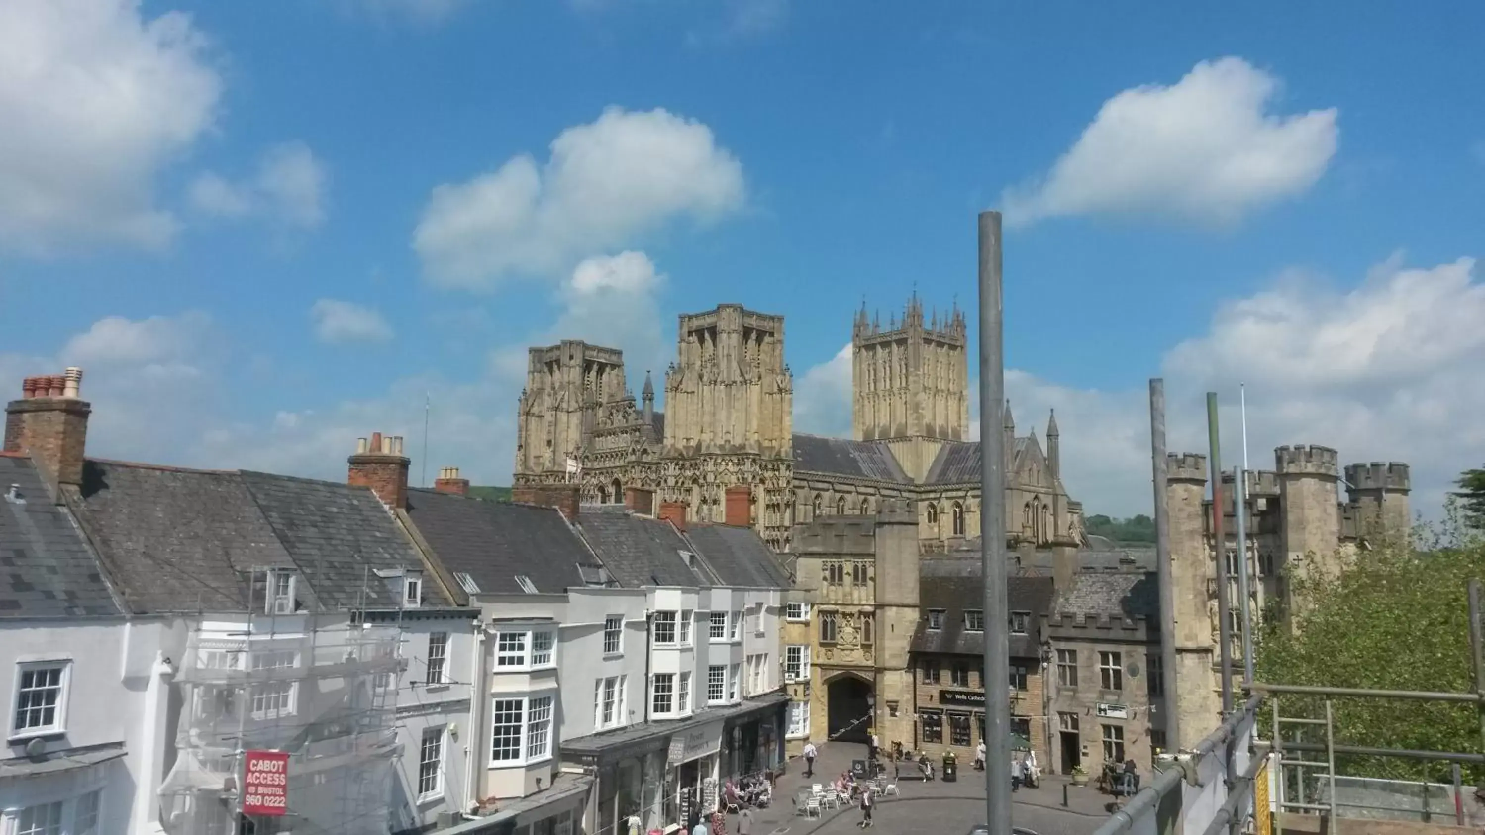
[[[1145,214],[1227,224],[1305,193],[1325,174],[1336,111],[1279,116],[1279,79],[1241,58],[1111,98],[1040,181],[1001,194],[1008,222]]]

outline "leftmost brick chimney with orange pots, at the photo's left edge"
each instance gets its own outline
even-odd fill
[[[92,405],[80,397],[83,369],[27,377],[21,399],[4,409],[4,451],[36,461],[50,486],[83,483],[83,448]]]

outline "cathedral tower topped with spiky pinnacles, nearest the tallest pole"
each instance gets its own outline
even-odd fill
[[[924,320],[913,294],[901,323],[869,322],[866,308],[851,329],[852,433],[857,440],[894,440],[903,469],[922,478],[939,451],[931,440],[970,436],[970,366],[964,313]]]

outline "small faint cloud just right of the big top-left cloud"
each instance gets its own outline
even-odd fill
[[[315,228],[325,220],[325,165],[303,142],[269,148],[252,178],[230,182],[215,172],[192,181],[187,197],[196,211],[241,218],[261,215],[284,225]]]

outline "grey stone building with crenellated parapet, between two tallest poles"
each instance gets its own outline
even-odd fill
[[[1042,623],[1050,644],[1050,771],[1133,759],[1149,774],[1161,722],[1160,595],[1155,574],[1083,571],[1057,590]],[[1210,733],[1203,731],[1203,734]]]

